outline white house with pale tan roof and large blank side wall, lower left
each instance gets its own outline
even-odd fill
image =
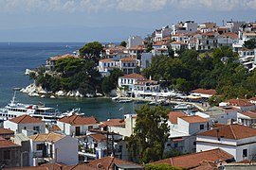
[[[78,141],[58,133],[37,134],[30,138],[29,164],[46,162],[78,163]]]

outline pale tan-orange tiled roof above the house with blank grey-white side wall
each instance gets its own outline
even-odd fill
[[[60,139],[63,139],[64,137],[65,135],[54,133],[54,132],[50,132],[48,134],[36,134],[36,135],[29,136],[29,138],[35,142],[45,142],[45,141],[56,142],[56,141],[59,141]]]

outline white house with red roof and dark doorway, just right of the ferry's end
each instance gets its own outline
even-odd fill
[[[66,116],[57,121],[64,134],[81,136],[86,135],[91,128],[99,127],[100,123],[95,117],[82,117],[76,114]]]

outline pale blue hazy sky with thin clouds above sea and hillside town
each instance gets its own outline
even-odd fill
[[[256,0],[0,0],[0,42],[119,42],[156,28],[256,21]]]

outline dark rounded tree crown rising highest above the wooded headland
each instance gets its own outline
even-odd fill
[[[93,59],[98,63],[103,47],[100,42],[89,42],[79,49],[80,56],[84,59]]]

